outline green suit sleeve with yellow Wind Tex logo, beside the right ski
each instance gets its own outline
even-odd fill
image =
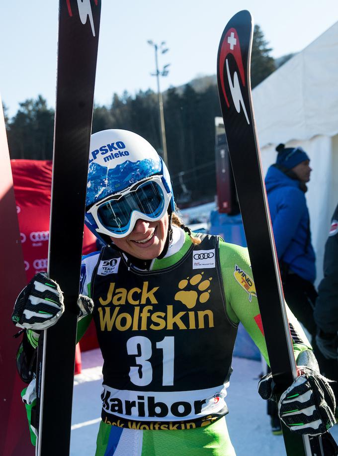
[[[228,317],[236,324],[243,324],[269,365],[248,249],[220,241],[219,253]],[[312,347],[287,306],[286,311],[292,325],[293,350],[297,360],[300,353],[312,350]]]

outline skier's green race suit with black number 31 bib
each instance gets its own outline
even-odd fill
[[[224,416],[240,321],[268,363],[247,249],[173,239],[149,272],[109,247],[84,257],[104,360],[96,456],[235,455]],[[297,359],[311,346],[287,311]]]

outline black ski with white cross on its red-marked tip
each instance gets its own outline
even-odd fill
[[[277,396],[297,376],[274,247],[251,98],[252,17],[240,11],[226,25],[217,80],[232,169],[243,218],[271,372]],[[321,437],[295,435],[283,426],[288,456],[324,455]]]

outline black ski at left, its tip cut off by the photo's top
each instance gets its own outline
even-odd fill
[[[69,455],[77,299],[101,0],[60,0],[48,275],[65,313],[45,330],[37,363],[37,455]],[[42,335],[41,337],[42,338]]]

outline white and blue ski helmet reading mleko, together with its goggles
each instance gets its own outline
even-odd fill
[[[97,238],[125,237],[138,219],[160,220],[169,205],[173,211],[169,172],[148,141],[127,130],[91,135],[84,221]]]

